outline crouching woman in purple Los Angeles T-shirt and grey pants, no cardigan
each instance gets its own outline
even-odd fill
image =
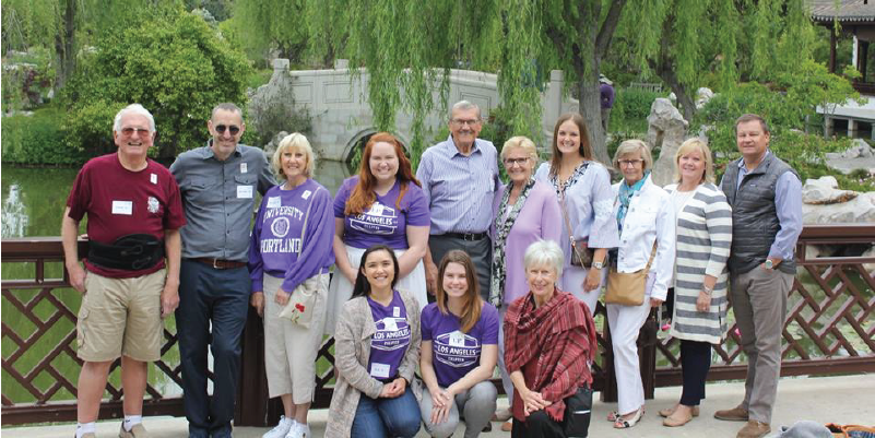
[[[438,279],[437,300],[423,310],[419,410],[425,428],[440,438],[456,431],[461,411],[464,436],[473,438],[489,423],[498,396],[489,381],[498,360],[498,310],[480,297],[466,252],[447,252]]]

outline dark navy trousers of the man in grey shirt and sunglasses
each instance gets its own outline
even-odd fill
[[[217,270],[182,260],[176,333],[190,437],[230,437],[250,288],[246,267]],[[213,355],[212,398],[206,394],[208,346]]]

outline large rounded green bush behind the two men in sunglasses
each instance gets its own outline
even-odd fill
[[[180,9],[120,20],[95,43],[68,87],[67,141],[92,153],[111,150],[113,117],[137,102],[155,116],[162,158],[199,145],[220,102],[243,103],[245,56],[204,21]]]

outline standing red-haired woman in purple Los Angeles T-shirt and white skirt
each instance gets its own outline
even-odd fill
[[[326,332],[334,333],[341,306],[350,298],[365,249],[386,245],[398,257],[399,288],[428,304],[423,256],[430,216],[419,181],[401,143],[388,132],[368,140],[358,175],[347,178],[334,199],[335,275],[329,286]]]

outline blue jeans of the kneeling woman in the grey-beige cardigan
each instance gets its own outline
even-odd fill
[[[356,438],[412,438],[419,431],[419,404],[410,387],[394,399],[358,399],[352,436]]]

